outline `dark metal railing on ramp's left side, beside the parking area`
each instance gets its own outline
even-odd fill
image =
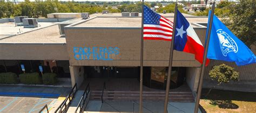
[[[55,110],[56,112],[67,112],[70,106],[71,101],[73,100],[75,94],[77,92],[77,84],[75,84],[75,86],[73,86],[71,92],[69,93],[68,96],[66,96],[66,99],[62,102],[62,104],[60,104],[60,106]]]

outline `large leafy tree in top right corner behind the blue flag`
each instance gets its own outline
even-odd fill
[[[231,4],[230,16],[223,19],[224,24],[248,47],[256,44],[256,2],[240,0]]]

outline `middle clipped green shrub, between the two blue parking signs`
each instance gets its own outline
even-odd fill
[[[19,79],[23,84],[42,84],[42,78],[38,73],[22,73],[19,74]]]

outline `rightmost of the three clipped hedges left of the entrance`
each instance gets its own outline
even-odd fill
[[[54,85],[57,83],[57,74],[56,73],[44,73],[43,82],[45,85]]]

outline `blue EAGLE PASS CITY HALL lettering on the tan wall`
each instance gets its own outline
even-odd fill
[[[111,55],[118,55],[119,48],[118,47],[73,47],[74,58],[76,60],[89,60],[90,58],[93,60],[104,60],[109,61],[113,60],[110,58]]]

